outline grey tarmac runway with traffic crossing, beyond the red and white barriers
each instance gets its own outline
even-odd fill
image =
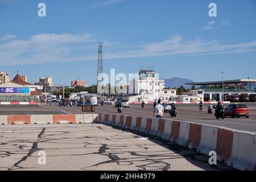
[[[171,118],[169,113],[164,113],[164,118],[175,119],[177,121],[189,121],[196,123],[204,123],[208,125],[228,127],[230,129],[250,131],[256,133],[256,103],[246,104],[250,109],[250,118],[225,118],[216,119],[213,114],[207,114],[207,105],[203,107],[203,113],[199,112],[198,105],[183,104],[177,105],[177,117]],[[225,105],[228,106],[228,105]],[[77,106],[61,106],[53,104],[49,106],[43,104],[41,106],[0,106],[0,115],[7,114],[81,114],[81,107]],[[96,106],[96,113],[112,113],[118,114],[117,108],[114,105]],[[87,113],[88,114],[88,113]],[[130,105],[130,108],[124,108],[123,113],[125,115],[139,116],[139,117],[152,117],[153,108],[152,105],[146,105],[141,108],[141,105]]]

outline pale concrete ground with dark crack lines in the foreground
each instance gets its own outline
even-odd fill
[[[145,137],[146,140],[138,138]],[[38,164],[39,151],[46,165]],[[234,170],[209,156],[101,124],[0,126],[0,170]]]

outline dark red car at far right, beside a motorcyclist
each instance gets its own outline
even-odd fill
[[[225,117],[246,117],[249,118],[249,109],[243,104],[231,104],[224,110]]]

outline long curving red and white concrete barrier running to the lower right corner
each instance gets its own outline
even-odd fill
[[[217,160],[230,167],[256,170],[256,133],[193,122],[118,114],[98,114],[98,123],[141,131],[205,155],[216,151]]]

